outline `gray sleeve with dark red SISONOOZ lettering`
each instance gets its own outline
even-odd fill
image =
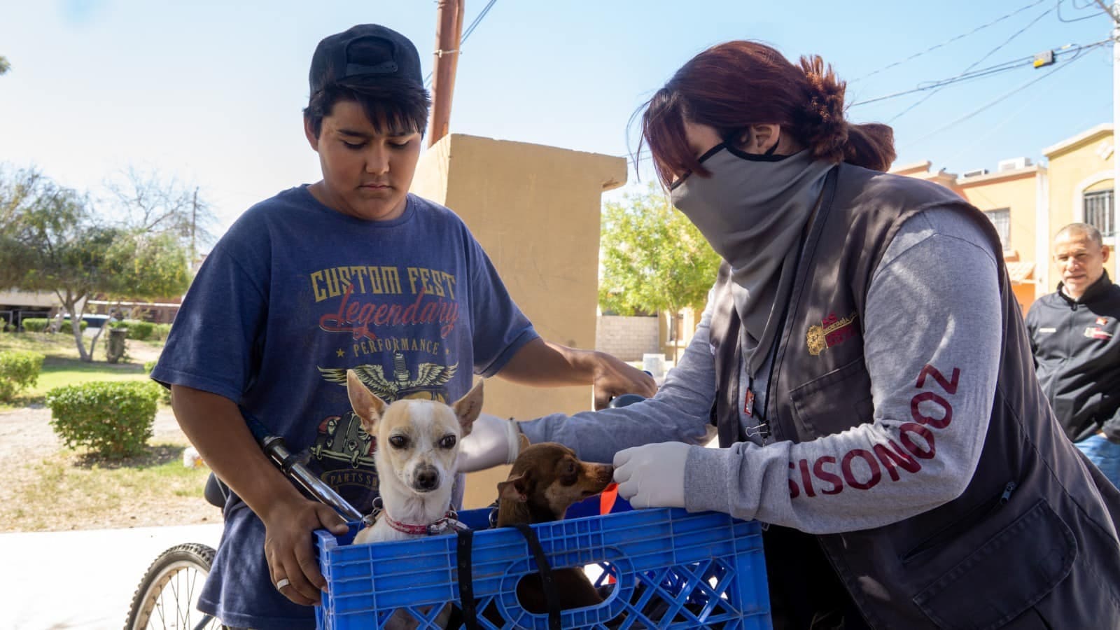
[[[896,522],[959,497],[996,391],[997,269],[967,219],[932,210],[908,220],[867,295],[874,421],[800,444],[692,448],[685,507],[827,534]]]

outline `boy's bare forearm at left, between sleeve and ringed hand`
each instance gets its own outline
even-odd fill
[[[262,520],[283,503],[304,500],[261,451],[232,400],[172,386],[171,407],[206,465]]]

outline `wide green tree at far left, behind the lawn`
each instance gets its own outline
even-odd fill
[[[93,361],[99,328],[86,351],[85,303],[99,294],[140,298],[186,289],[186,251],[168,233],[110,225],[87,197],[34,172],[0,182],[0,288],[53,291],[69,315],[82,361]]]

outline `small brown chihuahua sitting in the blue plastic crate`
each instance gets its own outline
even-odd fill
[[[553,442],[533,444],[521,451],[510,478],[497,484],[497,526],[560,520],[572,503],[603,492],[610,484],[614,466],[579,461],[567,446]],[[562,610],[603,602],[582,568],[552,571]],[[517,599],[526,611],[548,612],[538,574],[517,584]]]

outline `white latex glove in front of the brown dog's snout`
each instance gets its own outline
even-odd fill
[[[615,453],[618,494],[635,508],[683,508],[689,448],[683,442],[665,442]]]

